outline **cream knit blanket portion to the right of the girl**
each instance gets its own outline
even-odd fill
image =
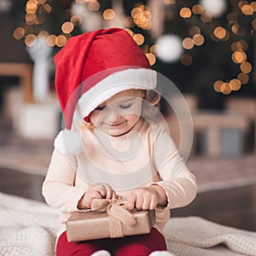
[[[168,250],[177,256],[256,255],[256,232],[204,218],[171,218],[164,232]]]

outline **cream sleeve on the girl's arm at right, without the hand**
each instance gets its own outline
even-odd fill
[[[154,148],[154,165],[160,181],[153,184],[165,190],[168,208],[184,207],[195,199],[197,184],[175,143],[161,131]]]

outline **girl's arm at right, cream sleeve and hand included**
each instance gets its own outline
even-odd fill
[[[132,189],[127,198],[128,209],[152,210],[156,207],[177,208],[188,205],[196,195],[195,176],[185,166],[172,138],[166,131],[159,131],[152,148],[157,172],[154,175],[155,182],[149,187]]]

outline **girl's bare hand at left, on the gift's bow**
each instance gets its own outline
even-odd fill
[[[90,208],[91,201],[94,198],[116,199],[117,195],[107,183],[95,183],[84,193],[79,201],[78,208]]]

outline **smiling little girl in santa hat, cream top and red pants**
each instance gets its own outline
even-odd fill
[[[70,38],[55,65],[66,129],[55,138],[43,195],[61,210],[57,255],[165,251],[162,230],[170,209],[193,201],[196,183],[166,126],[154,119],[151,110],[160,96],[143,51],[124,30],[102,29]],[[128,210],[155,210],[149,234],[67,241],[65,222],[72,212],[90,208],[95,198],[118,195]]]

